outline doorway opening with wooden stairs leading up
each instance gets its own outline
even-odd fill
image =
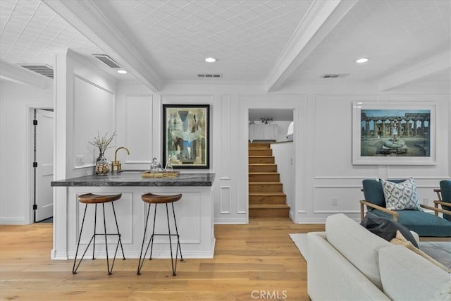
[[[294,188],[290,187],[291,183],[283,182],[285,178],[293,178],[288,175],[292,170],[278,165],[284,166],[283,161],[290,160],[285,156],[290,151],[285,148],[294,149],[292,145],[279,145],[292,141],[287,133],[293,113],[293,109],[249,109],[249,219],[290,217],[288,197],[293,197]]]

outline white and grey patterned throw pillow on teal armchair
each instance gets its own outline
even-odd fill
[[[413,178],[402,183],[393,183],[381,179],[383,195],[387,209],[391,210],[421,210],[416,185]]]

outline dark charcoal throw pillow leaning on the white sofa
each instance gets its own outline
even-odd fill
[[[393,219],[386,219],[385,217],[367,212],[360,224],[371,231],[371,233],[388,241],[393,240],[393,238],[396,237],[397,231],[400,231],[404,238],[409,240],[409,242],[412,242],[415,247],[419,247],[414,235],[410,233],[409,229],[402,226],[400,223],[393,221]]]

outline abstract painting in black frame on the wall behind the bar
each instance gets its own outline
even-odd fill
[[[210,106],[163,104],[163,167],[210,167]]]

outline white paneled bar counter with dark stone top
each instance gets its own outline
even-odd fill
[[[144,234],[147,203],[142,202],[141,195],[152,192],[156,195],[175,195],[182,193],[180,201],[174,203],[180,244],[184,258],[213,258],[214,256],[214,200],[212,185],[214,173],[180,173],[176,178],[142,178],[141,171],[123,171],[108,176],[82,176],[66,180],[56,180],[54,187],[54,248],[51,259],[73,259],[82,222],[85,204],[78,202],[78,195],[84,193],[116,194],[122,198],[114,202],[116,216],[125,257],[140,257],[142,235]],[[111,204],[105,204],[107,233],[114,233]],[[146,241],[152,234],[154,208],[151,216]],[[171,214],[171,211],[170,211]],[[94,227],[94,205],[88,205],[85,228],[83,229],[80,250],[86,247]],[[171,220],[171,219],[170,219]],[[173,231],[171,224],[171,231]],[[103,232],[101,207],[97,209],[97,229]],[[156,233],[167,233],[166,207],[159,205],[156,212]],[[110,238],[109,238],[110,239]],[[111,243],[114,243],[114,236]],[[109,240],[110,241],[110,240]],[[117,240],[116,240],[117,241]],[[109,248],[113,255],[114,248]],[[104,240],[96,239],[96,257],[105,258]],[[92,257],[92,247],[86,258]],[[156,237],[153,258],[170,258],[167,237]]]

